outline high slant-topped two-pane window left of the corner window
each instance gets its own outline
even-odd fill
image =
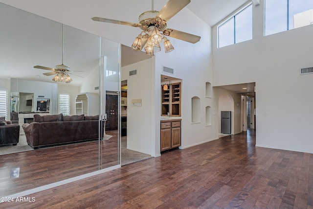
[[[218,47],[252,39],[252,3],[218,26]]]

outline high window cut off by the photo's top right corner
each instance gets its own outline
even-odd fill
[[[265,30],[270,35],[313,23],[312,0],[266,0]]]

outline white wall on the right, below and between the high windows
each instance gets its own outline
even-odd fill
[[[256,146],[313,153],[313,25],[263,36],[264,1],[253,6],[253,39],[217,48],[214,86],[256,82]]]

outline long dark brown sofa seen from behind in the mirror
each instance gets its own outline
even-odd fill
[[[99,116],[34,115],[34,122],[22,127],[27,143],[35,149],[99,138]]]

